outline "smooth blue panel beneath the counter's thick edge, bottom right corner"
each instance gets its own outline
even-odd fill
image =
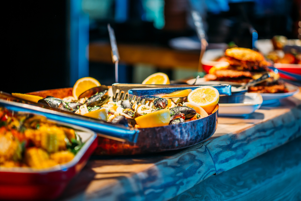
[[[301,200],[301,137],[209,177],[170,201],[190,200]]]

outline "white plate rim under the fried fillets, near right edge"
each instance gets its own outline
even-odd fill
[[[285,83],[285,86],[288,89],[288,93],[261,93],[263,103],[262,105],[268,105],[275,102],[278,102],[281,99],[290,97],[295,95],[296,93],[299,93],[299,87],[292,85],[290,83]]]

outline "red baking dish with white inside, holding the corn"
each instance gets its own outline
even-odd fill
[[[0,103],[0,106],[4,105]],[[17,109],[12,111],[19,112]],[[85,144],[72,161],[62,165],[42,169],[0,167],[0,200],[56,199],[69,181],[86,165],[97,147],[96,133],[76,125],[51,121],[75,129]]]

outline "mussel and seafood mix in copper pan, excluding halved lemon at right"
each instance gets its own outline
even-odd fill
[[[110,88],[109,92],[108,90],[96,92],[90,97],[83,97],[79,100],[75,100],[73,96],[63,99],[47,97],[39,100],[38,103],[47,103],[51,107],[74,112],[78,115],[135,128],[179,124],[208,116],[208,113],[200,106],[191,106],[188,103],[188,93],[186,97],[182,98],[168,98],[166,95],[165,98],[154,99],[151,105],[139,104],[135,108],[130,105],[129,100],[113,102],[112,96]],[[213,110],[209,112],[211,114]]]

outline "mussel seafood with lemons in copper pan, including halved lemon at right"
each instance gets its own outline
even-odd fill
[[[193,94],[203,98],[199,99]],[[19,96],[16,93],[12,95]],[[26,96],[31,95],[26,94]],[[206,96],[211,98],[207,100]],[[193,91],[189,89],[162,94],[147,105],[133,106],[129,100],[114,102],[112,88],[101,85],[82,92],[78,97],[67,96],[60,99],[46,96],[39,99],[37,103],[112,124],[122,124],[130,128],[147,128],[180,124],[207,117],[214,112],[218,101],[218,90],[208,86]]]

